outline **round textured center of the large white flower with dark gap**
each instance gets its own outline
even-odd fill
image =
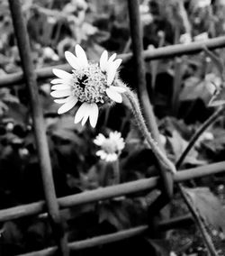
[[[97,63],[89,63],[83,69],[73,70],[73,73],[72,91],[73,95],[80,102],[103,105],[103,103],[110,101],[105,94],[105,90],[108,87],[107,76],[99,68]]]

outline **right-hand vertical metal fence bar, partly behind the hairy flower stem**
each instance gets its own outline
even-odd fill
[[[145,63],[142,57],[143,53],[143,36],[142,27],[139,17],[139,0],[128,0],[128,9],[130,16],[130,36],[132,40],[133,58],[135,60],[136,72],[137,72],[137,88],[139,93],[140,105],[143,109],[143,115],[145,117],[148,129],[152,134],[152,137],[158,143],[158,146],[162,149],[162,145],[159,139],[159,132],[157,129],[156,117],[152,109],[152,105],[148,96],[148,89],[146,85],[146,70]],[[173,178],[172,173],[167,171],[159,162],[159,171],[162,178],[162,190],[166,200],[169,201],[173,196]],[[159,197],[161,201],[162,197]],[[157,201],[158,203],[158,201]],[[160,205],[157,204],[157,206]]]

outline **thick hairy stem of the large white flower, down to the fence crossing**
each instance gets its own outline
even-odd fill
[[[151,134],[148,132],[148,128],[144,121],[143,115],[140,112],[139,101],[138,101],[137,97],[130,91],[129,88],[127,88],[125,96],[127,96],[127,99],[130,102],[130,109],[131,109],[132,113],[134,114],[134,117],[137,121],[140,133],[143,135],[143,137],[148,142],[148,146],[155,153],[155,155],[156,155],[157,159],[160,161],[160,163],[166,169],[168,169],[172,173],[175,173],[174,164],[170,160],[167,159],[166,154],[163,151],[161,151],[161,149],[157,146],[157,142],[154,141]]]

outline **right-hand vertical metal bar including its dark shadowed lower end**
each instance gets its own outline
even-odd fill
[[[145,63],[143,58],[143,41],[142,41],[142,28],[139,18],[139,0],[128,0],[129,16],[130,16],[130,34],[132,40],[133,58],[135,60],[137,78],[138,78],[138,92],[140,105],[143,108],[143,114],[146,119],[148,128],[152,133],[152,137],[158,142],[162,149],[159,132],[157,129],[157,122],[153,113],[152,106],[148,97],[148,90],[146,85],[146,72]],[[159,163],[160,165],[160,163]],[[157,218],[160,215],[159,211],[163,206],[169,202],[173,196],[173,177],[162,165],[160,165],[160,176],[162,178],[162,194],[156,198],[152,206],[148,207],[148,225],[152,237],[161,237],[161,233],[157,233]]]

